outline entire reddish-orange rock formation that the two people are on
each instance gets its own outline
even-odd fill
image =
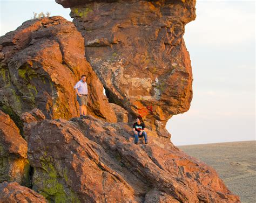
[[[26,140],[0,111],[0,158],[8,160],[1,181],[18,181],[49,202],[239,202],[165,129],[192,99],[182,37],[195,1],[56,2],[71,7],[76,26],[62,17],[33,19],[0,38],[0,109]],[[82,74],[90,92],[84,120],[76,118],[73,91]],[[148,145],[133,143],[138,114]],[[29,163],[29,173],[11,167],[12,157]],[[17,176],[2,176],[14,170]],[[26,174],[32,183],[24,183]],[[0,184],[6,201],[45,202],[35,192]]]

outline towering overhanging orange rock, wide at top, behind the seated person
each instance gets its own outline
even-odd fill
[[[58,1],[85,39],[85,52],[110,101],[160,130],[192,100],[192,71],[183,40],[194,20],[190,1]],[[159,124],[157,126],[157,123]]]

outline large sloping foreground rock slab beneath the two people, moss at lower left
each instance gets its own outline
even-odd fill
[[[133,143],[124,123],[44,120],[25,130],[33,190],[66,202],[238,202],[217,173],[171,143]]]

